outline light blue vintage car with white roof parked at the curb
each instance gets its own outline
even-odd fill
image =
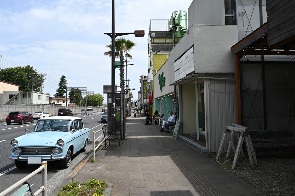
[[[26,133],[28,129],[25,130]],[[11,157],[17,168],[42,161],[60,160],[63,168],[68,168],[71,157],[77,152],[85,152],[89,141],[89,128],[84,127],[79,117],[55,116],[37,121],[32,133],[12,139]]]

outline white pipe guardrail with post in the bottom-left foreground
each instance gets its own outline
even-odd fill
[[[28,179],[32,178],[36,174],[38,174],[40,171],[42,175],[42,182],[41,182],[41,187],[34,193],[34,195],[39,195],[42,192],[42,196],[47,196],[47,161],[42,161],[42,165],[36,169],[34,172],[30,173],[23,179],[19,180],[17,183],[14,185],[8,187],[4,191],[0,193],[0,196],[5,196],[9,192],[13,191],[16,189],[18,186],[22,185],[24,182],[26,182]]]

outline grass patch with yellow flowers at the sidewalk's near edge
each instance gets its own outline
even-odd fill
[[[79,184],[72,178],[71,183],[63,186],[57,196],[104,196],[102,194],[108,186],[106,180],[100,181],[95,178]]]

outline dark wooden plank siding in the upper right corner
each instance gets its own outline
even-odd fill
[[[294,0],[266,0],[268,46],[295,34]]]

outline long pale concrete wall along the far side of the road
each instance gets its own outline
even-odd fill
[[[6,120],[6,116],[9,114],[9,112],[14,111],[26,111],[30,114],[33,114],[37,111],[46,111],[50,114],[50,116],[57,116],[58,108],[69,108],[73,111],[73,114],[80,114],[81,109],[89,108],[88,107],[80,107],[80,106],[49,106],[49,105],[35,105],[35,104],[6,104],[1,103],[0,104],[0,115],[1,115],[1,121]],[[93,107],[93,112],[101,112],[102,108],[96,108]]]

